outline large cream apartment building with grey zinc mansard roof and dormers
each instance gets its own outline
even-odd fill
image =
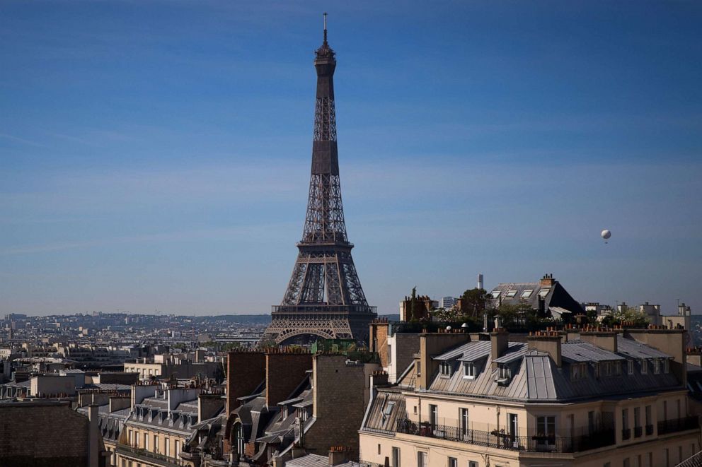
[[[364,462],[392,467],[674,466],[700,450],[685,331],[422,333],[377,386]]]

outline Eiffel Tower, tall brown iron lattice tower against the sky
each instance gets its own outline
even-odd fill
[[[334,109],[334,51],[327,42],[316,50],[317,97],[309,199],[302,241],[292,277],[262,342],[308,343],[315,338],[368,340],[377,315],[369,307],[351,257],[341,203]]]

